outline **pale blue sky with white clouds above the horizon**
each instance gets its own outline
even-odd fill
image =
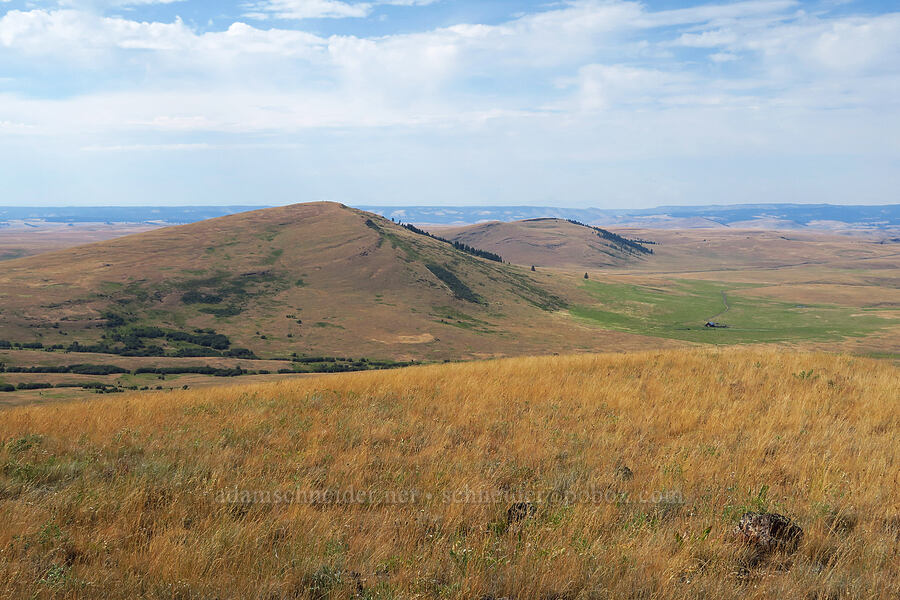
[[[898,0],[0,0],[0,205],[900,202]]]

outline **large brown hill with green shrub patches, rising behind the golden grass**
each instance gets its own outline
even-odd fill
[[[3,262],[0,340],[398,359],[641,340],[565,321],[558,285],[369,213],[298,204]]]

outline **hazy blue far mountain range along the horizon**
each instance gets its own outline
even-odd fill
[[[559,208],[547,206],[371,206],[356,208],[404,223],[469,225],[536,218],[573,219],[591,225],[642,228],[887,230],[900,228],[900,204],[737,204],[661,206],[648,209]],[[262,208],[260,206],[178,207],[0,207],[0,226],[41,223],[195,223]]]

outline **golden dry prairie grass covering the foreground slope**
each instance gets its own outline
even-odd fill
[[[889,362],[692,349],[14,408],[0,597],[897,598],[898,399]],[[799,550],[754,560],[748,510]]]

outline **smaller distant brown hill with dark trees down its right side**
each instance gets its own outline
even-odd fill
[[[596,269],[622,266],[650,256],[648,248],[640,244],[564,219],[498,221],[467,227],[433,227],[431,231],[525,266]]]

